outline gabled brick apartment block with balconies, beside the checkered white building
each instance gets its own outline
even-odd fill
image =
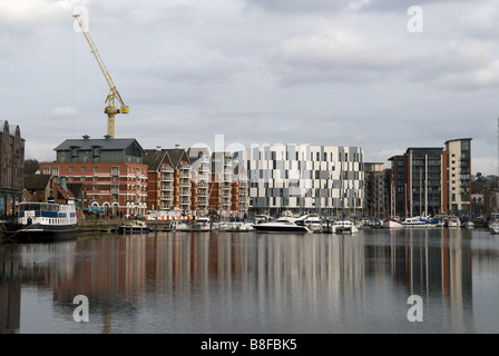
[[[231,152],[208,148],[145,150],[148,165],[149,209],[182,209],[187,215],[244,217],[247,215],[247,179],[235,174]]]

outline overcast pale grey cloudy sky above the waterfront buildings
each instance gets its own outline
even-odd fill
[[[25,159],[102,138],[144,149],[354,146],[384,162],[472,138],[472,174],[498,172],[497,0],[1,0],[0,120]],[[222,144],[221,144],[222,138]]]

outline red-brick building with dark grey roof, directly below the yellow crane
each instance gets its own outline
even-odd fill
[[[144,149],[131,138],[67,139],[55,148],[55,162],[41,162],[40,172],[56,181],[81,182],[88,205],[107,215],[144,215],[147,209],[147,165]]]

